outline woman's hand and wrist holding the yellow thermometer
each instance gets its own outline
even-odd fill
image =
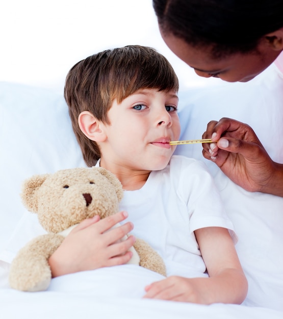
[[[283,166],[267,154],[254,131],[247,124],[222,118],[211,121],[202,138],[202,154],[210,159],[236,184],[250,192],[283,196]]]

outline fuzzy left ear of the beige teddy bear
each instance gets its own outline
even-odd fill
[[[20,194],[22,202],[30,211],[37,212],[38,197],[37,190],[50,174],[33,175],[25,180],[22,184],[22,192]]]

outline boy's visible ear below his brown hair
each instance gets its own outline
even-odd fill
[[[103,142],[107,139],[104,125],[98,121],[90,112],[84,111],[79,115],[79,126],[84,135],[95,142]]]

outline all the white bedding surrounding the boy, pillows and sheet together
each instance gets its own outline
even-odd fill
[[[271,157],[283,162],[283,79],[273,65],[249,83],[221,83],[179,95],[182,139],[200,138],[212,119],[233,117],[250,124]],[[204,161],[215,176],[249,281],[243,305],[144,300],[144,286],[161,276],[134,265],[62,276],[41,293],[10,289],[9,262],[42,231],[20,202],[22,180],[85,164],[62,95],[0,83],[0,112],[1,318],[283,318],[283,198],[244,191],[202,158],[200,145],[178,146],[177,153]]]

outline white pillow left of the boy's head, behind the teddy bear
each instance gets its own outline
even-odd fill
[[[19,197],[22,181],[85,163],[62,94],[1,82],[0,114],[1,255],[26,211]]]

